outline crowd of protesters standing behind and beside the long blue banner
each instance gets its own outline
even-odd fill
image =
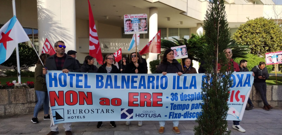
[[[116,62],[113,54],[107,54],[104,58],[104,64],[99,68],[94,65],[95,59],[88,55],[85,57],[83,61],[83,65],[80,66],[80,62],[76,60],[76,51],[70,50],[65,53],[66,45],[63,41],[57,41],[54,45],[56,54],[49,56],[49,54],[41,54],[40,59],[38,60],[37,66],[35,68],[35,91],[37,94],[38,102],[34,107],[34,115],[32,118],[33,123],[39,123],[37,118],[37,114],[43,105],[44,108],[44,120],[50,120],[50,129],[47,135],[55,135],[58,134],[58,124],[53,125],[52,114],[49,114],[49,97],[47,93],[47,86],[45,82],[45,74],[47,70],[58,70],[63,73],[68,72],[83,72],[83,73],[128,73],[128,74],[146,74],[147,73],[147,62],[144,58],[141,57],[139,52],[132,52],[129,55],[129,58],[123,57],[121,62]],[[186,51],[186,50],[185,50]],[[179,62],[174,59],[175,51],[172,49],[167,49],[164,52],[162,63],[157,67],[156,73],[166,75],[167,73],[174,73],[179,76],[182,74],[195,74],[197,73],[196,69],[192,66],[192,59],[185,58],[185,64],[182,66]],[[233,70],[236,72],[246,72],[249,71],[247,68],[247,60],[241,60],[239,65],[233,61],[232,59],[232,50],[227,48],[225,50],[225,55],[227,60],[232,64],[229,66],[233,66]],[[41,62],[42,61],[42,62]],[[43,64],[42,64],[43,63]],[[198,72],[205,73],[205,69],[203,68],[204,62],[201,62]],[[254,87],[256,87],[257,91],[260,92],[261,98],[264,103],[264,110],[270,110],[273,107],[268,104],[266,100],[266,83],[265,80],[268,79],[269,75],[267,69],[265,67],[265,62],[259,62],[259,65],[255,66],[251,71],[254,76]],[[232,68],[231,68],[232,69]],[[219,69],[220,70],[220,69]],[[251,110],[254,108],[252,101],[248,98],[248,104],[245,107],[246,110]],[[179,121],[174,120],[172,130],[176,134],[180,134],[180,130],[178,128]],[[126,125],[130,125],[130,121],[126,121]],[[164,133],[165,121],[159,121],[160,129],[159,133]],[[103,122],[97,123],[97,128],[101,128]],[[114,121],[110,122],[112,127],[116,127],[116,123]],[[138,126],[142,126],[142,121],[138,121]],[[72,135],[71,132],[71,123],[63,123],[63,127],[65,128],[66,135]],[[237,129],[240,132],[245,132],[245,130],[239,125],[239,121],[233,121],[233,128]],[[227,129],[228,131],[228,129]]]

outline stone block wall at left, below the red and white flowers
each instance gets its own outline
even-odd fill
[[[0,116],[33,113],[37,101],[32,89],[0,89]]]

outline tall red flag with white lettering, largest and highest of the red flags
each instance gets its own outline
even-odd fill
[[[98,34],[95,26],[95,21],[93,18],[93,13],[89,0],[88,0],[88,6],[89,6],[89,55],[96,58],[99,64],[102,64],[103,56],[102,56]]]

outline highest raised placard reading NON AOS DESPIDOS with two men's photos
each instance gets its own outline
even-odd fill
[[[124,15],[124,34],[142,34],[147,31],[147,14]]]

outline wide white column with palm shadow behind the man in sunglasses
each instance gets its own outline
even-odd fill
[[[76,50],[75,0],[37,0],[39,53],[46,38],[54,47],[62,40],[68,50]]]

